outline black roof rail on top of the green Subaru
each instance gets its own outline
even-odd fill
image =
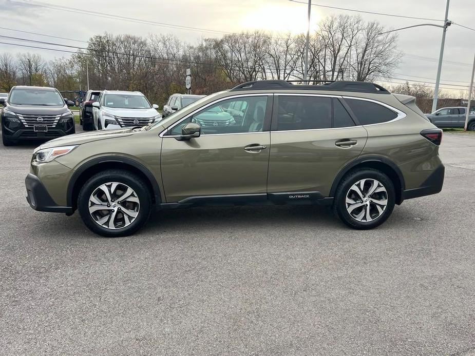
[[[311,82],[311,83],[323,83],[320,85],[294,85],[291,82]],[[239,84],[232,88],[230,91],[241,90],[269,90],[269,89],[285,89],[285,90],[331,90],[331,91],[354,91],[360,93],[375,93],[375,94],[390,94],[390,92],[383,88],[381,85],[377,85],[370,82],[350,82],[350,81],[252,81]]]

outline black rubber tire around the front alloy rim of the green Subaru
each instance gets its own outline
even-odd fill
[[[91,194],[96,191],[101,185],[109,183],[109,182],[117,182],[120,184],[124,184],[131,189],[134,190],[138,200],[139,200],[139,209],[138,209],[138,215],[135,218],[134,221],[130,223],[130,225],[127,225],[122,228],[115,228],[115,229],[109,229],[107,227],[101,226],[94,218],[91,216],[91,213],[89,212],[89,199]],[[113,193],[111,194],[111,197],[113,197]],[[148,190],[147,186],[145,183],[142,181],[142,179],[135,175],[134,173],[131,173],[126,170],[120,170],[120,169],[109,169],[105,170],[102,172],[97,173],[96,175],[93,175],[90,177],[90,179],[83,185],[79,192],[78,196],[78,211],[79,214],[81,215],[81,218],[86,224],[86,226],[93,232],[106,236],[108,238],[117,238],[120,236],[127,236],[135,233],[137,230],[139,230],[142,226],[145,225],[145,223],[148,220],[148,217],[150,215],[150,210],[151,210],[151,199],[150,199],[150,191]],[[115,216],[116,219],[120,220],[120,212],[119,201],[120,196],[117,197],[117,213]],[[112,200],[113,201],[113,200]],[[123,216],[122,216],[123,217]],[[110,221],[110,217],[108,219]],[[120,222],[119,222],[120,224]]]

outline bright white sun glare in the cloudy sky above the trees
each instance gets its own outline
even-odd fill
[[[318,29],[321,15],[312,9],[310,31]],[[241,26],[246,30],[264,30],[270,32],[290,32],[292,34],[307,32],[307,7],[289,5],[264,5],[250,11],[242,20]]]

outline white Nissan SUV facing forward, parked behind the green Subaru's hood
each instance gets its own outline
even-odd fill
[[[150,105],[139,91],[104,90],[92,103],[94,129],[146,126],[161,120],[157,109],[158,105]]]

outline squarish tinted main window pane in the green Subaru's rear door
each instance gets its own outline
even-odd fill
[[[326,129],[332,127],[330,97],[278,97],[277,131]]]

